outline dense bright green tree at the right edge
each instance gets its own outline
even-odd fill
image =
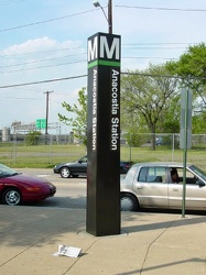
[[[205,133],[206,45],[189,46],[177,62],[170,62],[166,67],[173,75],[182,77],[182,86],[193,90],[193,133]]]

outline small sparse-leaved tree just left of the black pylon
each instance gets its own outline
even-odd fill
[[[66,125],[73,128],[74,135],[83,141],[85,145],[87,145],[87,92],[86,88],[83,87],[82,90],[78,91],[78,105],[71,106],[67,102],[62,103],[63,108],[66,111],[76,114],[75,118],[68,118],[58,113],[59,121]]]

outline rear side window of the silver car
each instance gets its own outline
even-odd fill
[[[142,167],[139,173],[138,182],[141,183],[165,183],[165,167]]]

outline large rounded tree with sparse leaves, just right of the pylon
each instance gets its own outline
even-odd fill
[[[155,133],[164,122],[171,102],[177,108],[180,100],[177,79],[163,77],[169,75],[165,65],[152,65],[144,72],[130,72],[121,81],[121,109],[130,123],[147,128],[153,134],[151,146],[155,148]],[[176,111],[175,111],[176,112]],[[177,112],[176,112],[177,113]],[[167,116],[169,117],[169,116]],[[174,114],[171,122],[176,122]],[[124,123],[124,122],[122,122]]]

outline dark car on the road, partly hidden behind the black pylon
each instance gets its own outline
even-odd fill
[[[120,174],[127,174],[130,166],[130,162],[120,161]],[[54,173],[61,174],[64,178],[87,176],[87,156],[84,156],[74,163],[61,163],[55,165]]]

